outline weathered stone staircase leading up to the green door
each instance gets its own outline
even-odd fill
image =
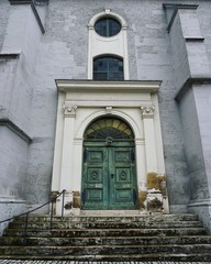
[[[193,215],[15,218],[0,260],[211,261],[211,235]]]

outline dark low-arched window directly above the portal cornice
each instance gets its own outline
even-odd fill
[[[95,80],[123,80],[123,59],[114,56],[100,56],[93,59]]]

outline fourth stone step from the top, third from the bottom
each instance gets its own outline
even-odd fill
[[[20,238],[3,237],[1,245],[165,245],[165,244],[211,244],[211,235],[187,235],[187,237],[106,237],[106,238]]]

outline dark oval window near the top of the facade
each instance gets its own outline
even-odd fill
[[[102,18],[96,22],[95,30],[101,36],[113,36],[121,31],[121,24],[115,19]]]

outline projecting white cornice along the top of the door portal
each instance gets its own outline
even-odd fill
[[[70,80],[56,79],[58,91],[143,91],[157,92],[160,80],[124,80],[124,81],[98,81],[98,80]]]

